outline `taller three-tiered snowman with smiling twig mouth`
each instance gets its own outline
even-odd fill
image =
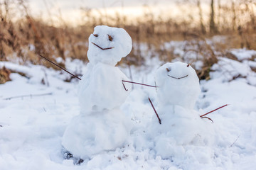
[[[119,109],[131,89],[128,78],[115,67],[132,50],[132,39],[122,28],[96,26],[89,37],[87,70],[78,86],[80,115],[71,120],[62,145],[73,157],[123,147],[130,131],[129,118]]]

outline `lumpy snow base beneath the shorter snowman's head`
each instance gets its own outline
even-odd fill
[[[164,159],[185,157],[186,146],[206,147],[214,143],[214,129],[209,120],[200,118],[197,111],[168,105],[158,109],[161,125],[153,117],[148,130],[154,150]],[[209,158],[210,159],[210,158]]]

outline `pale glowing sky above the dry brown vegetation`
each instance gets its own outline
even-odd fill
[[[208,1],[203,10],[208,11]],[[177,6],[178,0],[28,0],[33,16],[40,17],[44,21],[58,26],[61,24],[60,16],[65,23],[73,26],[84,23],[83,11],[80,8],[92,8],[92,14],[121,15],[129,16],[131,21],[134,17],[144,15],[145,10],[154,13],[154,16],[172,16],[174,18],[186,17],[191,14],[191,4]],[[196,2],[196,1],[195,1]],[[203,4],[203,3],[202,3]],[[144,5],[149,7],[143,8]],[[196,3],[195,3],[196,6]],[[197,13],[195,14],[197,16]],[[208,15],[207,15],[208,16]],[[50,18],[50,20],[49,20]]]

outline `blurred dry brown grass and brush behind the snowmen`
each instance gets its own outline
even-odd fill
[[[90,9],[82,8],[84,13],[82,17],[87,20],[84,25],[74,28],[64,21],[62,26],[55,27],[43,23],[41,18],[33,18],[26,1],[0,1],[0,61],[16,61],[18,57],[18,62],[21,64],[33,63],[54,67],[53,64],[38,57],[38,54],[41,54],[53,62],[56,62],[58,57],[64,61],[65,58],[70,57],[87,62],[87,38],[95,26],[109,25],[124,28],[132,37],[132,52],[122,62],[142,65],[146,60],[145,56],[159,57],[165,62],[170,62],[176,57],[183,60],[193,53],[197,56],[196,60],[203,62],[203,69],[198,70],[200,79],[210,79],[210,67],[218,61],[218,56],[228,55],[227,49],[233,47],[256,49],[255,2],[242,0],[232,1],[230,4],[214,2],[215,6],[212,4],[213,1],[209,4],[212,13],[207,22],[203,21],[206,16],[202,16],[201,1],[198,0],[196,8],[198,8],[199,21],[196,21],[192,14],[183,21],[176,21],[174,18],[164,20],[161,17],[155,18],[154,13],[147,11],[143,18],[137,18],[134,23],[129,23],[119,13],[116,16],[102,14],[101,18],[96,18],[92,16]],[[16,12],[21,13],[23,18],[14,22],[11,18]],[[238,17],[241,15],[247,16],[247,20],[242,21],[241,17]],[[62,20],[60,17],[60,21]],[[209,44],[208,40],[215,35],[222,35],[225,40]],[[186,42],[183,56],[176,55],[174,50],[164,46],[165,42],[171,40]],[[189,62],[193,64],[195,61]],[[65,67],[62,62],[58,64]]]

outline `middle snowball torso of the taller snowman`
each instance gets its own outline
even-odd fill
[[[125,84],[128,89],[125,91],[122,80],[129,79],[118,67],[102,63],[87,64],[87,71],[78,86],[81,113],[119,108],[132,89],[131,84]]]

